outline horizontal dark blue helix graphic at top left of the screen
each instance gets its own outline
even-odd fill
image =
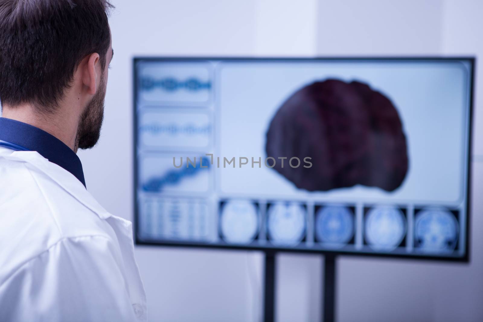
[[[164,89],[167,92],[175,92],[180,89],[186,89],[188,91],[200,91],[208,90],[212,86],[210,81],[200,81],[197,78],[188,78],[185,81],[177,80],[174,77],[166,77],[162,79],[153,79],[152,77],[143,77],[141,79],[141,89],[150,91],[155,88]]]

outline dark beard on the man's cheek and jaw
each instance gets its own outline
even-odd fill
[[[104,119],[104,98],[107,84],[104,76],[100,79],[99,90],[85,107],[81,115],[77,136],[75,138],[75,151],[77,149],[93,148],[100,137],[100,128]]]

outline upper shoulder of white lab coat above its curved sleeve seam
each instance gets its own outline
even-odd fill
[[[0,176],[0,276],[62,240],[115,240],[110,224],[42,171],[0,158]]]

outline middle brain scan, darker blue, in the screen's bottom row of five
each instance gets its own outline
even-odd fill
[[[354,215],[340,205],[322,207],[315,213],[315,236],[327,246],[340,247],[354,236]]]

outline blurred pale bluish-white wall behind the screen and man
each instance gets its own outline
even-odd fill
[[[115,55],[102,136],[96,148],[80,157],[88,190],[107,210],[129,220],[133,56],[483,55],[479,0],[112,2]],[[338,321],[483,321],[479,65],[477,61],[470,264],[341,257]],[[150,321],[261,321],[261,253],[137,246],[136,257]],[[284,254],[277,262],[277,321],[317,321],[322,256]]]

